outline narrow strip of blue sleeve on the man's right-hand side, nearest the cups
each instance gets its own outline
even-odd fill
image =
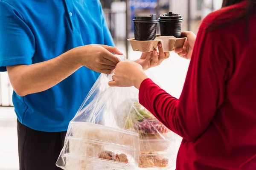
[[[104,45],[109,45],[109,46],[114,47],[115,44],[113,41],[113,37],[111,35],[111,32],[109,31],[108,23],[106,21],[105,14],[104,14],[104,11],[102,9],[102,5],[100,2],[99,2],[99,8],[101,11],[101,19],[102,19],[102,27],[103,27],[102,30],[103,30],[103,34],[104,34]]]

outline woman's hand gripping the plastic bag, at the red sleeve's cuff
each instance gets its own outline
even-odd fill
[[[112,77],[113,81],[108,82],[108,85],[111,87],[134,86],[139,89],[140,84],[147,78],[140,64],[124,61],[116,65],[115,75]]]

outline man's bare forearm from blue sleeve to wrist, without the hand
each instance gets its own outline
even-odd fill
[[[45,91],[69,77],[82,65],[68,51],[45,62],[6,67],[14,91],[19,96]]]

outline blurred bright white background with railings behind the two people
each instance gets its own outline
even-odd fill
[[[134,37],[132,19],[135,15],[149,15],[172,11],[183,18],[183,31],[197,34],[201,20],[212,11],[221,8],[222,0],[100,0],[111,34],[117,48],[128,59],[135,60],[141,52],[132,51],[128,38]],[[157,28],[157,33],[160,29]],[[189,60],[171,52],[170,58],[151,71],[162,87],[179,98],[186,78]],[[0,73],[0,170],[18,170],[17,117],[12,104],[12,86],[8,74]],[[85,97],[85,96],[84,96]],[[176,137],[177,150],[181,138]],[[176,151],[177,151],[176,150]],[[175,168],[174,168],[175,169]]]

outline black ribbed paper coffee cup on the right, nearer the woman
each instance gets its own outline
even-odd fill
[[[181,26],[183,17],[180,14],[169,12],[161,14],[159,19],[161,36],[181,37]]]

